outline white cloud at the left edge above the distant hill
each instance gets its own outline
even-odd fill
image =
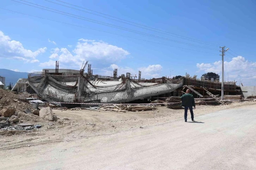
[[[40,53],[44,53],[47,50],[46,47],[39,48],[36,51],[25,49],[22,43],[11,40],[9,36],[6,36],[0,31],[0,56],[4,58],[14,58],[29,62],[30,59],[35,59]]]

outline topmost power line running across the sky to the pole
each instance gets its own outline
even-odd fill
[[[48,0],[47,0],[47,1],[48,1]],[[93,10],[90,10],[90,9],[88,9],[88,8],[84,8],[84,7],[80,7],[80,6],[77,6],[77,5],[69,4],[69,3],[67,3],[67,2],[63,2],[63,1],[60,1],[60,0],[56,0],[56,1],[62,2],[62,3],[64,3],[64,4],[72,5],[72,6],[75,6],[75,7],[83,8],[83,9],[88,10],[88,11],[92,11],[92,12],[96,12],[96,13],[99,13],[99,14],[103,14],[103,15],[106,15],[106,16],[109,16],[109,17],[113,17],[113,18],[116,18],[116,19],[120,19],[120,20],[123,20],[123,21],[127,21],[127,22],[129,22],[129,23],[133,23],[133,24],[141,25],[141,26],[144,26],[144,27],[147,27],[147,28],[150,28],[150,29],[154,29],[154,30],[162,31],[162,30],[159,30],[159,29],[155,29],[155,28],[153,28],[153,27],[149,27],[149,26],[146,26],[146,25],[142,25],[142,24],[134,23],[134,22],[132,22],[132,21],[128,21],[128,20],[125,20],[125,19],[121,19],[121,18],[118,18],[118,17],[114,17],[114,16],[111,16],[111,15],[108,15],[108,14],[104,14],[104,13],[101,13],[101,12],[93,11]],[[49,1],[49,2],[50,2],[50,1]],[[55,3],[55,2],[52,2],[52,3]],[[89,12],[87,12],[87,13],[89,13]],[[93,14],[93,13],[92,13],[92,14]],[[96,14],[95,14],[95,15],[96,15]],[[100,15],[99,15],[99,16],[100,16]],[[166,32],[166,31],[162,31],[162,32]],[[196,40],[196,41],[199,41],[199,42],[208,43],[208,42],[205,42],[205,41],[201,41],[201,40],[197,40],[197,39],[193,39],[193,38],[189,38],[189,37],[181,36],[181,35],[174,34],[174,33],[171,33],[171,32],[166,32],[166,33],[173,34],[173,35],[176,35],[176,36],[180,36],[180,37],[178,37],[178,38],[184,37],[184,38],[188,38],[188,39]],[[214,44],[214,43],[208,43],[208,44],[213,44],[213,45],[220,46],[220,45],[218,45],[218,44]]]

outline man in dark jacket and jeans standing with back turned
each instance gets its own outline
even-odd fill
[[[190,111],[192,121],[195,121],[192,106],[194,106],[194,109],[195,109],[196,104],[195,104],[194,96],[192,94],[190,94],[189,89],[187,89],[186,94],[183,94],[181,96],[181,101],[182,101],[181,106],[183,106],[185,108],[185,113],[184,113],[185,122],[187,122],[188,109]]]

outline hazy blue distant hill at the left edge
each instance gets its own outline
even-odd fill
[[[29,73],[26,72],[16,72],[7,69],[0,69],[0,76],[5,77],[5,86],[8,86],[10,82],[14,86],[19,78],[28,78],[28,74]]]

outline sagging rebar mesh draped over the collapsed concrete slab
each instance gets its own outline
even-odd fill
[[[102,103],[132,101],[139,97],[164,94],[182,87],[183,78],[156,78],[147,82],[138,82],[130,78],[112,81],[113,85],[97,86],[84,75],[49,75],[41,72],[28,76],[30,86],[45,100],[56,102]]]

